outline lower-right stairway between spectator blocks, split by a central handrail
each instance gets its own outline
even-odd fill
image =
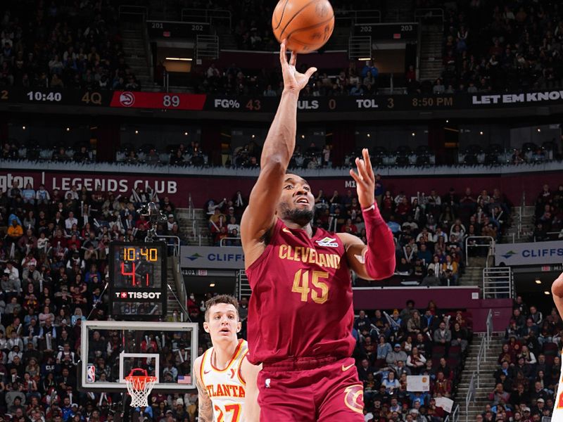
[[[466,411],[465,400],[467,392],[469,391],[469,383],[473,374],[477,373],[477,355],[479,354],[479,347],[483,333],[474,333],[467,359],[465,359],[465,367],[462,373],[460,384],[457,387],[456,402],[460,404],[460,421],[474,421],[475,416],[480,414],[489,403],[488,394],[495,389],[495,378],[493,373],[497,369],[497,352],[502,348],[502,334],[493,333],[491,343],[487,350],[487,359],[481,362],[481,380],[479,388],[477,388],[475,378],[475,395],[472,402],[469,402],[469,407]]]

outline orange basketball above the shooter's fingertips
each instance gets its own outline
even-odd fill
[[[311,53],[329,40],[334,11],[328,0],[279,0],[272,15],[276,39],[296,53]]]

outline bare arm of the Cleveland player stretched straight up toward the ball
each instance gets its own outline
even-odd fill
[[[287,61],[286,45],[282,42],[279,61],[284,76],[284,91],[262,148],[260,175],[241,220],[241,241],[247,268],[261,255],[264,235],[274,225],[284,174],[295,148],[299,91],[317,70],[309,68],[304,74],[300,73],[295,68],[296,60],[296,53],[291,53],[291,59]]]

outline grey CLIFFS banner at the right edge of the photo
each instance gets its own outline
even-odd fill
[[[495,264],[541,265],[563,261],[561,242],[500,243],[495,246]]]

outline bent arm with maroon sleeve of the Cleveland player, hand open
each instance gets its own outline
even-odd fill
[[[350,170],[350,176],[356,182],[367,245],[352,234],[339,233],[339,237],[346,247],[350,268],[362,279],[382,280],[395,271],[395,242],[375,203],[375,176],[367,148],[362,151],[362,156],[363,158],[356,158],[358,173]]]

